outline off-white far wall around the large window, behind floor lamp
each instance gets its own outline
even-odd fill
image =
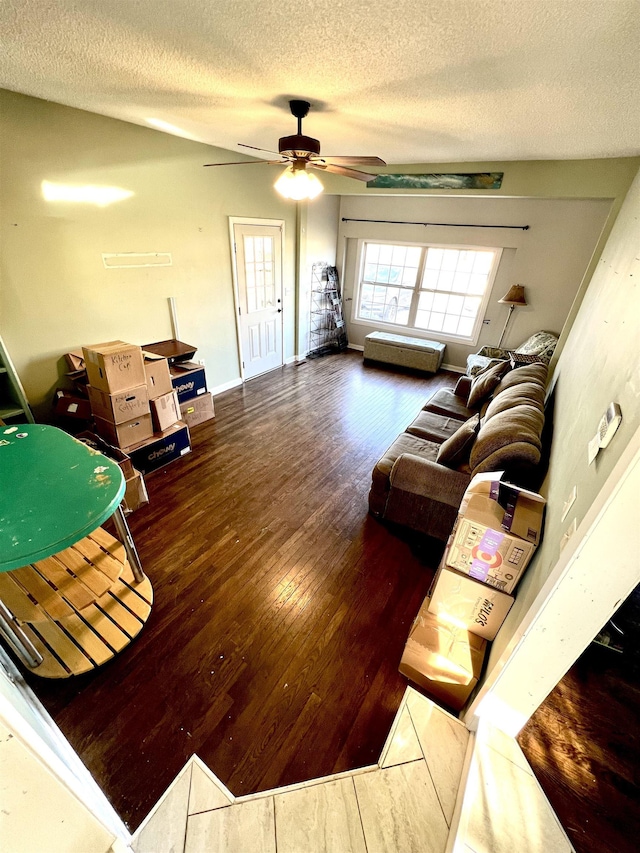
[[[610,210],[611,199],[343,197],[341,218],[530,226],[522,231],[341,222],[340,250],[347,245],[345,298],[353,296],[357,238],[503,248],[485,317],[489,323],[478,343],[446,342],[445,363],[464,367],[469,353],[484,344],[496,346],[508,313],[498,299],[512,284],[525,285],[528,304],[513,312],[503,345],[516,347],[540,329],[561,331]],[[350,320],[353,307],[354,302],[347,303]],[[362,345],[375,328],[380,327],[351,321],[349,340]],[[438,340],[435,333],[423,337]]]

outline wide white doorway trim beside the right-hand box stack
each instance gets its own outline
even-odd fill
[[[465,711],[468,728],[475,729],[487,714],[505,732],[517,734],[637,586],[640,567],[632,537],[639,493],[640,427]],[[621,530],[627,533],[622,542],[617,541]],[[607,571],[612,553],[615,571]]]

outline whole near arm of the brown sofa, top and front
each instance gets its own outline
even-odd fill
[[[391,470],[384,518],[446,542],[470,477],[403,453]]]

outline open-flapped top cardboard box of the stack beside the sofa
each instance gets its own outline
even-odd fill
[[[479,474],[469,484],[447,552],[447,565],[502,592],[512,592],[540,543],[545,499]]]

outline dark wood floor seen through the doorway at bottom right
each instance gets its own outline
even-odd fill
[[[615,622],[623,652],[591,644],[518,737],[577,853],[639,845],[640,588]]]

